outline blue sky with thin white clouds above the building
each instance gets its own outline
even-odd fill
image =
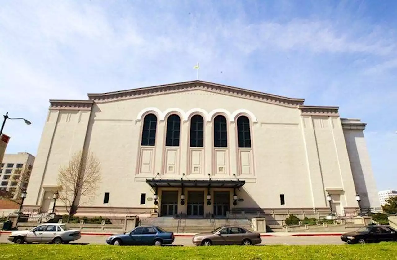
[[[49,99],[200,79],[361,118],[397,189],[397,1],[0,0],[7,153],[36,154]]]

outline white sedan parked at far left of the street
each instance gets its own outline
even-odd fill
[[[66,244],[81,238],[80,230],[69,229],[60,223],[45,223],[30,230],[13,231],[8,240],[16,243],[54,243]]]

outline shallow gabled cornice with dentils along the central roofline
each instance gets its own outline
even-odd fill
[[[130,89],[125,91],[115,91],[98,94],[88,94],[89,100],[96,103],[110,102],[122,99],[140,98],[145,96],[154,96],[175,92],[184,92],[192,90],[202,90],[229,96],[237,96],[251,100],[262,101],[266,103],[279,104],[289,107],[297,107],[303,105],[302,98],[287,98],[285,96],[278,96],[264,92],[252,91],[248,89],[241,89],[227,85],[220,85],[206,81],[187,81],[181,83],[173,83],[167,85],[158,85],[153,87],[144,87],[139,89]]]

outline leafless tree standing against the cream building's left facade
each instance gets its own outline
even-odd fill
[[[79,151],[71,157],[67,166],[59,169],[58,185],[62,186],[59,193],[69,217],[77,212],[77,208],[96,196],[101,181],[101,167],[92,152],[84,154]],[[81,197],[85,197],[81,202]]]

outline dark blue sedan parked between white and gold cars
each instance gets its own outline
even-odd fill
[[[175,237],[158,226],[139,226],[130,232],[112,235],[106,239],[109,245],[156,245],[172,244]]]

